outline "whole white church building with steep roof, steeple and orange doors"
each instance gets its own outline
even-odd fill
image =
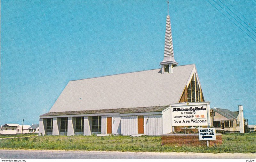
[[[69,81],[50,111],[40,116],[39,135],[171,133],[170,104],[206,102],[196,66],[178,66],[174,59],[169,15],[160,65],[161,69]]]

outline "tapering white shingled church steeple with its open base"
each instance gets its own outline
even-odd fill
[[[165,42],[164,42],[164,59],[160,62],[161,73],[173,73],[172,67],[177,66],[178,63],[174,59],[173,45],[172,45],[172,30],[170,16],[166,16]]]

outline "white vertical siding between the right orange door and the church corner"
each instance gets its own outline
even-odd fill
[[[163,133],[162,126],[162,115],[144,115],[145,135],[161,135]]]

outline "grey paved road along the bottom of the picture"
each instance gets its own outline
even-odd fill
[[[58,151],[58,150],[0,150],[2,159],[255,159],[256,154],[212,154],[176,152],[108,152],[108,151]]]

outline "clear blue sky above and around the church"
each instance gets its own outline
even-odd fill
[[[256,31],[256,2],[227,1]],[[169,13],[175,60],[196,64],[205,100],[256,124],[256,42],[207,1]],[[70,80],[160,68],[166,15],[165,0],[2,0],[0,123],[37,124]]]

